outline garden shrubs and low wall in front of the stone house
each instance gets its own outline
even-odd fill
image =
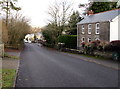
[[[92,41],[90,43],[81,43],[84,54],[100,56],[108,59],[120,59],[120,40],[105,42]]]

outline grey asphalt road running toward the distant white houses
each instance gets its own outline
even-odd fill
[[[21,53],[16,87],[117,86],[117,70],[33,43],[27,43]]]

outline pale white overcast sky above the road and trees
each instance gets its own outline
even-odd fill
[[[18,0],[18,5],[22,8],[21,13],[30,18],[33,27],[43,27],[47,24],[47,11],[50,4],[55,0]],[[62,1],[62,0],[56,0]],[[80,3],[88,0],[67,0],[73,3],[74,10],[79,10]]]

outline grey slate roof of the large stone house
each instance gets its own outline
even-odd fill
[[[118,15],[120,15],[120,9],[106,11],[106,12],[86,16],[82,21],[78,22],[77,24],[110,21]]]

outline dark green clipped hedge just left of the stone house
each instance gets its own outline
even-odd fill
[[[62,35],[58,37],[58,43],[64,43],[66,48],[77,48],[77,35]]]

